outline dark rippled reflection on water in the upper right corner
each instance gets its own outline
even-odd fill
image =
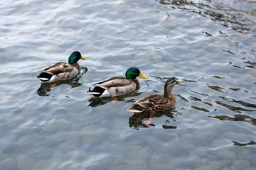
[[[255,30],[256,2],[251,0],[157,0],[163,5],[171,5],[182,11],[194,12],[202,17],[219,21],[241,33]],[[207,33],[207,36],[212,36]],[[256,36],[256,35],[254,35]]]

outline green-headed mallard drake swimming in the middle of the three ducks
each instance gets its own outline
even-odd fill
[[[126,71],[125,77],[110,77],[102,82],[97,82],[91,85],[94,86],[93,90],[90,87],[87,93],[92,94],[94,97],[112,97],[112,99],[116,100],[114,96],[128,94],[139,88],[139,81],[136,77],[148,78],[138,68],[131,67]]]

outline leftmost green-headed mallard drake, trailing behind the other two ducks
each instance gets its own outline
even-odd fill
[[[66,80],[75,77],[79,74],[80,66],[77,63],[79,59],[85,60],[79,51],[74,51],[66,62],[56,62],[49,67],[40,70],[40,74],[37,76],[41,80],[41,83],[55,82],[50,86],[50,89],[57,85],[59,80]]]

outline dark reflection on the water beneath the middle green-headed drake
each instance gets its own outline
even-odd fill
[[[144,92],[144,91],[143,91]],[[118,101],[124,101],[125,103],[129,103],[129,102],[134,102],[135,99],[130,99],[130,100],[125,100],[125,98],[127,97],[135,97],[135,96],[140,96],[141,94],[143,94],[143,92],[138,92],[138,91],[134,91],[130,94],[126,94],[126,95],[122,95],[122,96],[118,96],[117,100]],[[112,98],[110,97],[92,97],[88,100],[88,102],[90,102],[90,104],[88,106],[90,107],[97,107],[100,105],[105,105],[108,102],[113,102]]]

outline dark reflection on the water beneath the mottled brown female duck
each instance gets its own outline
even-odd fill
[[[156,126],[151,122],[151,119],[153,118],[159,118],[163,116],[167,116],[171,119],[179,116],[181,113],[175,110],[175,108],[170,109],[169,111],[161,112],[161,113],[155,113],[151,115],[139,115],[139,114],[133,114],[129,118],[129,127],[139,130],[140,127],[151,127]],[[174,120],[174,119],[173,119]],[[175,121],[175,120],[174,120]],[[165,124],[170,123],[170,121],[166,120]],[[162,125],[164,129],[176,129],[177,126],[172,125]]]

